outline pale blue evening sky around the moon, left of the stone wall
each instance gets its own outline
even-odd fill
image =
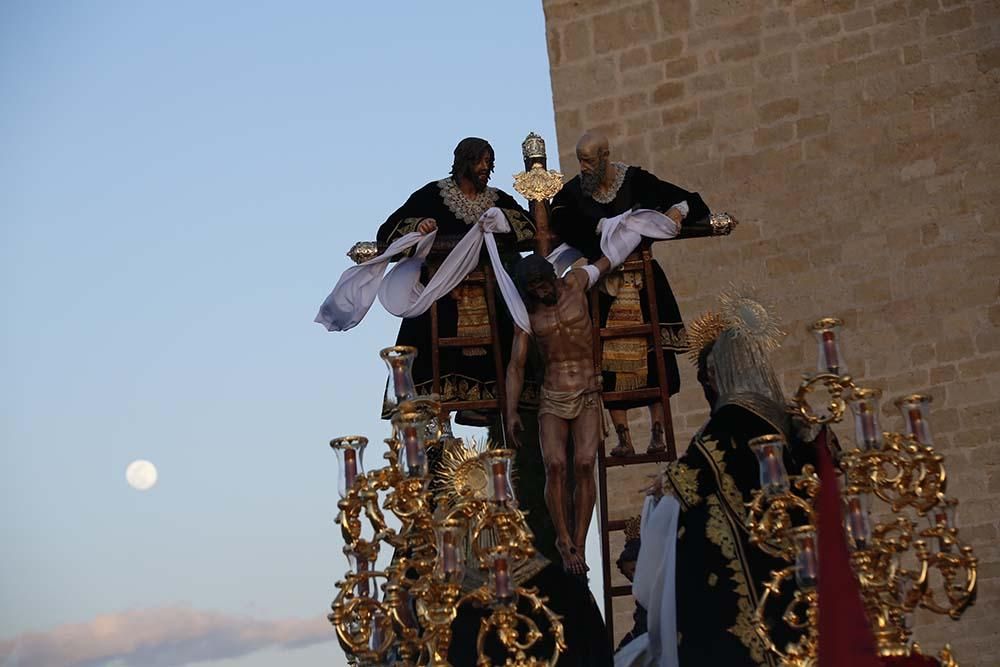
[[[462,137],[508,191],[528,131],[557,162],[540,5],[0,5],[0,640],[178,604],[326,613],[326,443],[384,437],[396,324],[312,318]]]

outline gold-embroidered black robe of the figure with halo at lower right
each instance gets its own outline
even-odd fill
[[[754,614],[771,571],[788,563],[752,546],[746,528],[746,503],[760,488],[757,460],[747,443],[766,434],[783,435],[790,443],[789,475],[814,462],[812,444],[796,438],[781,406],[742,394],[720,402],[684,456],[664,473],[664,493],[681,505],[676,595],[682,666],[777,664],[754,631]],[[785,627],[777,618],[770,624],[779,631]],[[789,631],[776,639],[784,645],[797,637]]]

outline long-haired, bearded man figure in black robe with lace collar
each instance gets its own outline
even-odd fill
[[[511,231],[495,234],[501,261],[512,266],[519,258],[518,250],[531,250],[534,223],[528,213],[506,192],[489,187],[493,172],[494,152],[484,140],[469,137],[455,148],[451,174],[432,181],[406,200],[379,227],[377,241],[385,248],[395,239],[413,231],[429,233],[437,229],[434,247],[424,267],[424,284],[433,275],[448,251],[476,224],[489,208],[503,211]],[[480,268],[489,262],[486,248],[482,250]],[[500,348],[509,351],[513,338],[513,322],[497,295]],[[462,283],[451,294],[437,302],[439,337],[482,337],[490,334],[486,307],[486,292],[482,284]],[[418,394],[433,392],[431,362],[431,313],[403,319],[396,338],[397,345],[412,345],[418,350],[413,365],[413,380]],[[506,365],[506,364],[504,364]],[[481,345],[441,350],[441,400],[476,401],[496,398],[496,366],[492,350]],[[383,411],[383,417],[388,413]],[[459,423],[481,426],[487,423],[481,414],[459,412]]]

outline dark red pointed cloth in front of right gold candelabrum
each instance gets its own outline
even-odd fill
[[[837,473],[826,438],[823,429],[816,439],[820,479],[819,667],[883,667],[861,602],[861,589],[851,570]]]

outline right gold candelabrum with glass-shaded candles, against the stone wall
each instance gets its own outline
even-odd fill
[[[846,374],[840,350],[842,325],[840,320],[824,318],[809,327],[819,347],[818,368],[803,376],[793,402],[814,427],[840,422],[848,408],[853,413],[856,448],[845,449],[837,458],[844,529],[879,655],[891,661],[920,654],[910,640],[915,609],[958,619],[974,601],[977,560],[972,547],[958,537],[958,501],[946,495],[944,457],[934,450],[931,439],[931,397],[913,394],[897,399],[903,430],[883,432],[882,392],[858,386]],[[828,399],[820,410],[809,401],[816,391]],[[760,490],[749,503],[750,539],[789,563],[772,572],[764,586],[757,633],[782,665],[815,665],[819,478],[809,465],[800,475],[787,475],[780,436],[756,438],[750,446],[760,466]],[[875,501],[881,505],[873,507]],[[780,618],[799,639],[778,646],[769,618]],[[938,657],[946,667],[957,666],[947,645]]]

